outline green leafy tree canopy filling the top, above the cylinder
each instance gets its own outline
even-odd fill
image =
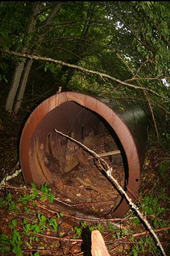
[[[36,25],[30,31],[36,5]],[[57,5],[59,11],[48,24]],[[19,52],[26,49],[26,53],[103,72],[169,99],[169,21],[170,5],[164,1],[1,2],[0,47]],[[17,58],[3,51],[1,57],[0,78],[8,80],[10,61]],[[148,101],[157,120],[164,116],[169,124],[169,103],[161,97],[152,93],[144,97],[141,90],[55,63],[42,65],[69,90],[138,99],[146,109]]]

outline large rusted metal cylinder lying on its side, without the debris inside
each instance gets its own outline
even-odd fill
[[[59,191],[65,173],[72,175],[72,169],[78,165],[79,160],[74,158],[77,146],[74,150],[71,147],[73,157],[68,157],[68,139],[57,134],[54,129],[86,145],[89,138],[92,142],[92,137],[96,138],[96,134],[101,134],[105,127],[109,136],[113,136],[118,143],[117,147],[123,157],[123,186],[132,200],[135,200],[140,188],[140,172],[146,151],[146,115],[134,104],[82,93],[53,95],[38,105],[28,118],[20,140],[20,163],[26,183],[40,187],[46,182]],[[112,164],[111,156],[109,159]],[[129,209],[128,203],[121,197],[111,215],[122,217]],[[75,207],[61,203],[61,211],[72,213]]]

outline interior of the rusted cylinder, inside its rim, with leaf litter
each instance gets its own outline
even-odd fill
[[[50,111],[34,131],[36,160],[55,197],[93,215],[110,215],[121,195],[101,170],[101,163],[77,143],[54,132],[57,129],[98,154],[113,168],[113,177],[124,188],[128,161],[117,134],[98,114],[74,101]],[[137,180],[136,180],[137,181]]]

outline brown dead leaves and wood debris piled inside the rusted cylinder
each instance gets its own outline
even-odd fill
[[[112,167],[112,176],[125,186],[125,171],[121,151],[113,136],[105,131],[94,135],[90,132],[81,142]],[[107,154],[109,152],[109,154]],[[116,152],[111,154],[110,152]],[[121,195],[101,170],[98,159],[92,157],[72,140],[67,139],[65,150],[65,167],[62,174],[62,186],[52,188],[57,199],[69,203],[78,210],[98,217],[111,217],[111,213],[119,205]]]

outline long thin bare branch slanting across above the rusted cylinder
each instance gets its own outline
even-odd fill
[[[86,72],[86,73],[91,73],[91,74],[96,74],[98,76],[100,76],[101,78],[109,78],[110,80],[113,80],[119,84],[124,84],[125,86],[128,86],[128,87],[131,87],[131,88],[135,88],[137,90],[142,90],[142,91],[148,91],[154,95],[157,95],[158,97],[161,97],[162,99],[165,99],[165,101],[169,101],[170,102],[170,99],[166,98],[166,97],[163,97],[162,95],[160,95],[159,93],[156,93],[155,91],[149,89],[149,88],[144,88],[144,87],[139,87],[139,86],[136,86],[134,84],[130,84],[128,82],[125,82],[125,81],[121,81],[113,76],[110,76],[110,75],[107,75],[105,73],[102,73],[102,72],[97,72],[97,71],[94,71],[94,70],[88,70],[87,68],[82,68],[81,66],[76,66],[74,64],[70,64],[70,63],[67,63],[67,62],[64,62],[64,61],[60,61],[58,59],[52,59],[52,58],[48,58],[48,57],[40,57],[40,56],[37,56],[37,55],[30,55],[30,54],[26,54],[26,53],[18,53],[16,51],[9,51],[8,49],[5,49],[5,50],[2,50],[1,51],[5,52],[5,53],[9,53],[9,54],[12,54],[12,55],[16,55],[18,57],[27,57],[29,59],[36,59],[36,60],[42,60],[42,61],[49,61],[49,62],[54,62],[54,63],[57,63],[59,65],[62,65],[62,66],[67,66],[69,68],[75,68],[76,70],[80,70],[82,72]]]

